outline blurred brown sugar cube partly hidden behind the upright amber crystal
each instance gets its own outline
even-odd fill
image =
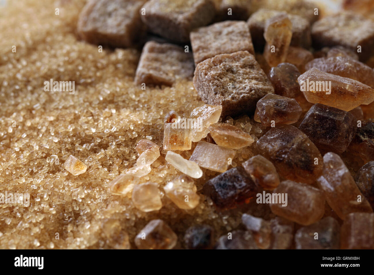
[[[265,45],[264,29],[266,20],[279,14],[281,14],[279,10],[259,9],[248,19],[247,23],[253,37],[253,45],[257,51],[262,51]],[[312,43],[309,21],[299,15],[288,14],[288,18],[292,23],[291,46],[309,48]]]

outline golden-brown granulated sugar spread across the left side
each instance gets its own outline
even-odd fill
[[[188,116],[204,103],[192,81],[145,90],[135,85],[140,51],[99,52],[97,45],[79,40],[77,16],[84,3],[19,0],[0,9],[0,192],[30,193],[28,207],[0,204],[0,248],[110,248],[113,240],[104,234],[108,219],[119,221],[132,248],[152,219],[164,220],[177,233],[175,248],[184,247],[191,224],[211,225],[215,240],[239,226],[243,211],[218,214],[201,192],[193,210],[180,210],[162,194],[161,210],[144,213],[130,198],[107,191],[111,180],[134,166],[139,140],[162,147],[163,117],[170,110]],[[75,81],[75,93],[45,91],[50,79]],[[248,116],[227,120],[252,135],[264,129]],[[237,150],[232,165],[248,159],[251,150]],[[188,159],[192,152],[182,155]],[[165,154],[141,178],[156,182],[162,192],[181,174],[165,162]],[[88,166],[84,174],[73,176],[63,168],[70,155]],[[203,170],[195,180],[198,190],[218,174]],[[267,205],[251,207],[270,214]]]

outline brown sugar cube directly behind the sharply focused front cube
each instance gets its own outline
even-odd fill
[[[245,21],[224,21],[191,32],[193,58],[197,65],[219,54],[248,51],[254,54],[251,34]]]

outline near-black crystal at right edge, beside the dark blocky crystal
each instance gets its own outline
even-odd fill
[[[365,163],[374,161],[374,122],[372,119],[362,121],[348,150],[359,156]]]

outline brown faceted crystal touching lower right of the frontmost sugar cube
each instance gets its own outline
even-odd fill
[[[264,126],[292,124],[297,122],[302,112],[294,98],[267,94],[257,102],[254,120]]]

